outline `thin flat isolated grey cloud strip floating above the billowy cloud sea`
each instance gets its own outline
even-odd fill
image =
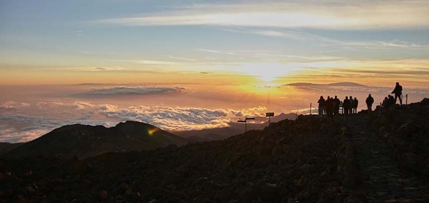
[[[113,94],[154,94],[154,93],[173,93],[182,92],[185,88],[181,87],[114,87],[94,89],[86,94],[92,95],[113,95]]]

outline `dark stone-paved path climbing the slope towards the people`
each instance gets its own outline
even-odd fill
[[[363,177],[368,202],[426,202],[429,189],[417,176],[398,167],[391,147],[368,129],[367,115],[353,115],[345,126],[351,134],[355,159]]]

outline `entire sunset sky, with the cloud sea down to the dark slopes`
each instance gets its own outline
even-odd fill
[[[399,81],[419,101],[428,19],[418,0],[0,0],[0,141],[73,122],[226,126],[344,91],[282,86],[295,82],[355,82],[383,98]]]

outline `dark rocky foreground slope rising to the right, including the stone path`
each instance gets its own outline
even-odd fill
[[[181,147],[0,160],[0,201],[429,202],[427,103]]]

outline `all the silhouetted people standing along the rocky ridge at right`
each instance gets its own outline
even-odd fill
[[[397,99],[399,98],[399,103],[402,105],[402,86],[399,85],[399,82],[396,83],[395,89],[392,91],[392,94],[395,94],[395,97],[388,95],[384,98],[382,106],[383,108],[396,104]],[[350,96],[345,97],[343,101],[340,101],[335,95],[334,98],[328,96],[325,100],[323,96],[320,96],[319,101],[319,115],[327,115],[328,117],[332,115],[339,114],[339,109],[342,108],[342,112],[345,115],[358,113],[358,104],[359,101],[356,97]],[[365,103],[368,107],[368,113],[372,113],[372,106],[374,104],[374,98],[371,94],[368,95]]]

